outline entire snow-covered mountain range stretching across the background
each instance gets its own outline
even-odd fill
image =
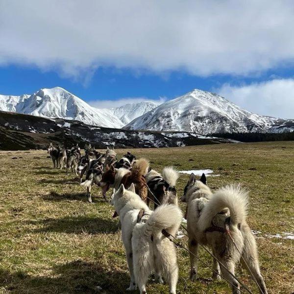
[[[164,103],[141,101],[99,109],[61,87],[43,88],[32,95],[0,95],[0,110],[133,130],[185,131],[204,135],[294,131],[294,120],[261,116],[215,93],[198,89]]]

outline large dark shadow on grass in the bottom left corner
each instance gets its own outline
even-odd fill
[[[50,276],[33,276],[25,271],[0,269],[0,288],[17,294],[125,293],[129,275],[109,270],[99,263],[75,260],[52,268]],[[102,290],[99,290],[101,287]]]

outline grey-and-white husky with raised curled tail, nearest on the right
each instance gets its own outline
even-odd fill
[[[185,187],[181,200],[187,202],[187,229],[189,236],[190,278],[197,278],[197,251],[198,244],[209,245],[218,260],[235,275],[236,264],[241,260],[249,274],[260,287],[260,293],[267,294],[264,279],[260,273],[255,238],[246,222],[248,193],[240,185],[231,185],[212,193],[206,186],[206,177],[202,174],[201,181],[196,180],[192,173]],[[229,230],[236,246],[229,235]],[[244,262],[244,260],[245,262]],[[249,269],[248,269],[248,268]],[[233,294],[240,294],[238,281],[225,270],[217,260],[214,260],[214,269],[230,281]]]

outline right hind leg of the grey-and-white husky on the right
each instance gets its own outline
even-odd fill
[[[259,269],[255,239],[252,235],[247,236],[247,238],[249,239],[248,240],[249,242],[245,245],[245,248],[242,253],[242,256],[243,256],[246,264],[244,263],[242,258],[241,258],[241,262],[250,275],[252,272],[256,282],[258,283],[258,285],[260,287],[259,292],[261,294],[268,294],[265,281],[264,281],[264,279],[260,273],[260,269]]]

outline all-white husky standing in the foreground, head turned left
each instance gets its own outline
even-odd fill
[[[128,190],[122,184],[111,203],[122,223],[122,239],[131,277],[127,290],[135,290],[138,286],[140,294],[146,294],[148,276],[155,270],[159,283],[163,283],[163,273],[170,286],[170,293],[175,294],[178,279],[176,249],[163,236],[162,230],[165,229],[173,236],[176,234],[182,220],[180,209],[166,204],[153,212],[135,194],[133,183]]]

